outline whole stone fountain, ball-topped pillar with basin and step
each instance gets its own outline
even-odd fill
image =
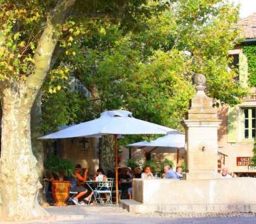
[[[186,132],[186,173],[179,179],[134,179],[133,200],[120,200],[132,213],[256,212],[256,179],[221,179],[217,171],[217,119],[204,93],[205,77],[196,74],[196,96],[181,124]]]

